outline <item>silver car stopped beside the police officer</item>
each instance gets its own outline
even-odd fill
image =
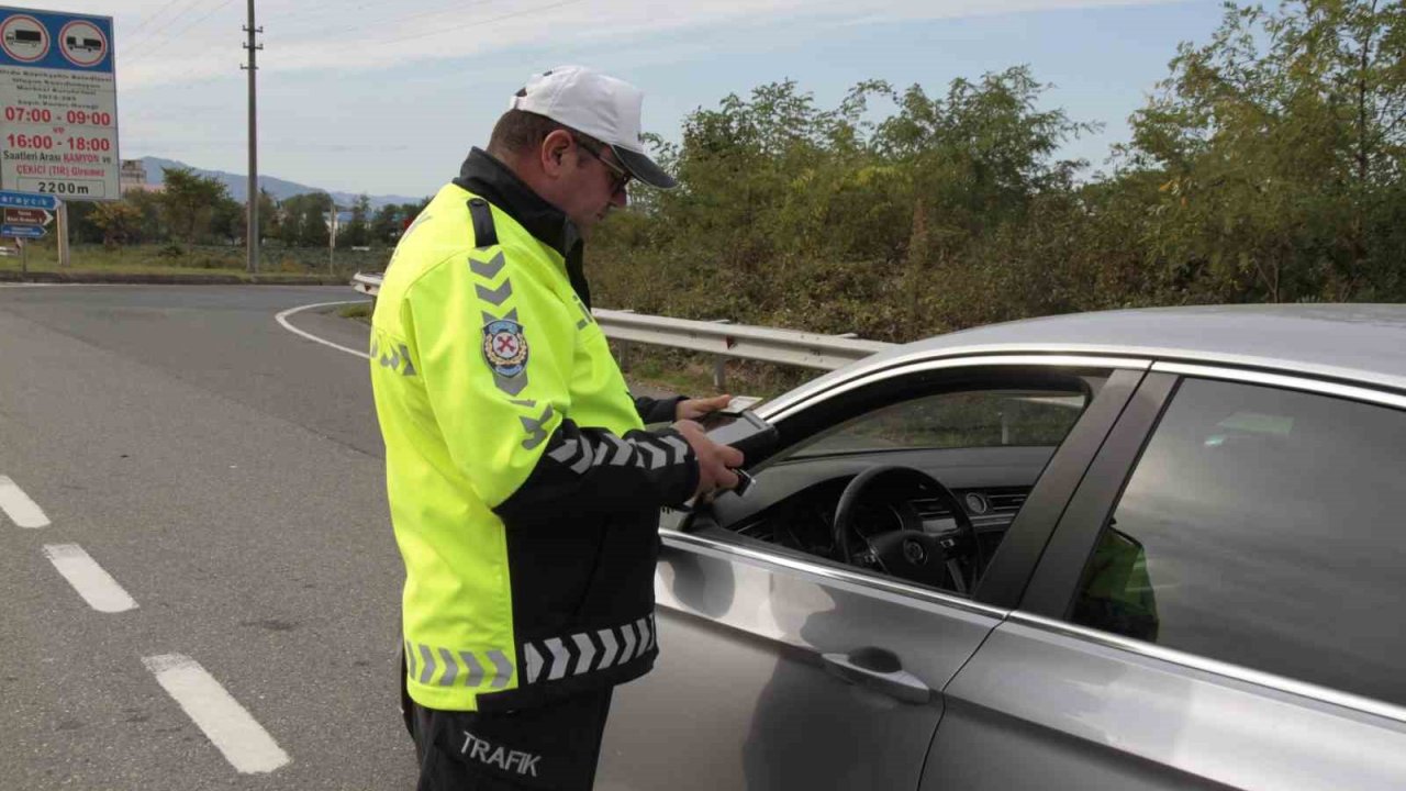
[[[1406,307],[995,325],[758,414],[598,788],[1406,788]]]

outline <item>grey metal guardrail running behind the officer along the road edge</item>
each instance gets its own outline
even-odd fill
[[[357,273],[352,287],[375,297],[381,287],[380,274]],[[820,370],[834,370],[893,346],[882,341],[863,341],[844,335],[821,335],[770,327],[748,327],[723,321],[695,321],[643,315],[633,311],[593,308],[606,338],[621,343],[648,343],[711,355],[713,384],[724,388],[724,365],[728,360],[759,360]],[[628,352],[621,353],[621,367]]]

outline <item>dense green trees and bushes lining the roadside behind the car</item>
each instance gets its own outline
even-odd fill
[[[1202,303],[1406,298],[1402,1],[1227,6],[1097,169],[1014,66],[941,93],[794,82],[655,141],[681,187],[603,225],[600,305],[910,341]]]

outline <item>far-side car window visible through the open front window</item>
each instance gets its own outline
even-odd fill
[[[1053,390],[941,393],[860,415],[792,450],[792,457],[886,449],[1059,445],[1088,396]]]

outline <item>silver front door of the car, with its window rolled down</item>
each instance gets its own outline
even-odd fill
[[[959,376],[970,366],[941,367]],[[931,372],[918,374],[932,384]],[[845,403],[862,405],[835,407],[824,422],[882,405],[866,391],[911,398],[904,376],[859,387]],[[1053,525],[1140,376],[1118,372],[1083,410],[1017,522]],[[785,438],[786,419],[778,425]],[[998,576],[1018,588],[1033,557],[1011,557]],[[943,712],[939,691],[1007,615],[724,529],[666,529],[655,591],[661,657],[616,691],[598,788],[917,788]]]

